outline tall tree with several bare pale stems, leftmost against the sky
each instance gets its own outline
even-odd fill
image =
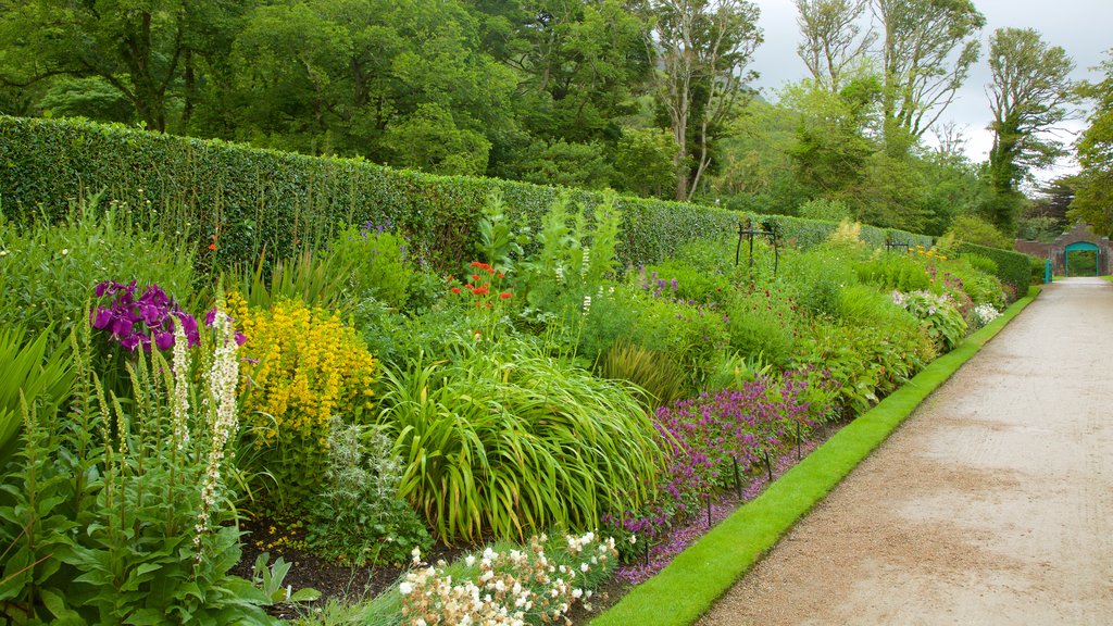
[[[761,43],[758,8],[746,0],[644,0],[652,88],[679,146],[676,199],[699,186],[712,144],[757,77],[747,70]]]

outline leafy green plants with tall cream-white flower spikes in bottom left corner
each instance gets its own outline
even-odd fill
[[[149,361],[140,353],[128,366],[130,397],[106,397],[86,331],[75,341],[71,411],[23,404],[24,447],[0,480],[0,614],[16,623],[273,623],[259,608],[269,600],[228,574],[239,559],[236,493],[225,480],[237,356],[224,327],[201,352],[204,391],[179,336],[173,370],[157,351]]]

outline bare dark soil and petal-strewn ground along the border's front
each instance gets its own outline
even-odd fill
[[[801,446],[801,453],[807,456],[826,439],[834,436],[839,428],[841,424],[828,427],[826,431],[817,432],[814,439]],[[797,451],[794,446],[774,460],[774,480],[798,462],[796,456]],[[592,615],[598,615],[615,604],[634,585],[660,571],[677,554],[698,540],[709,528],[726,519],[739,506],[761,493],[769,481],[764,464],[759,469],[760,471],[755,471],[745,483],[740,498],[735,491],[717,496],[711,503],[710,526],[708,525],[707,509],[703,509],[699,515],[693,516],[687,525],[674,528],[669,537],[656,540],[650,546],[648,558],[643,556],[634,563],[623,565],[609,583],[595,590],[590,612],[575,605],[569,614],[571,623],[587,623]],[[319,603],[331,598],[344,603],[368,600],[396,584],[406,570],[404,566],[352,567],[323,559],[305,549],[305,530],[296,521],[247,519],[240,522],[240,529],[247,534],[240,540],[243,557],[233,569],[233,574],[250,579],[253,566],[259,554],[269,552],[269,564],[273,564],[280,556],[286,563],[293,565],[286,575],[284,585],[290,586],[295,591],[306,587],[316,589],[322,594]],[[469,551],[467,547],[436,546],[430,554],[422,555],[422,558],[426,563],[436,563],[441,559],[451,563],[466,551]],[[272,613],[275,617],[287,619],[299,615],[297,608],[285,605],[273,607]]]

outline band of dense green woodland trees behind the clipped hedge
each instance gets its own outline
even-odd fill
[[[1018,215],[1058,154],[1061,50],[994,37],[998,143],[974,164],[939,124],[978,58],[971,0],[794,3],[810,76],[767,100],[747,0],[0,0],[0,113],[934,234]],[[1101,224],[1110,82],[1071,180]]]

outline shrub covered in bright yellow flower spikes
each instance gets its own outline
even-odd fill
[[[244,354],[257,363],[242,387],[255,448],[244,457],[269,480],[255,476],[253,491],[301,510],[324,478],[333,415],[358,421],[371,409],[377,362],[353,329],[322,309],[288,300],[253,310],[236,293],[228,305],[247,336]]]

